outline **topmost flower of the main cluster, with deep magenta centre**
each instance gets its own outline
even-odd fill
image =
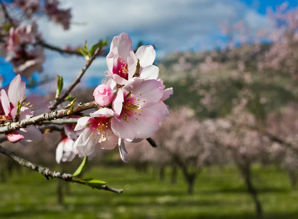
[[[145,67],[153,64],[155,54],[153,46],[150,45],[141,46],[135,54],[131,38],[127,33],[121,33],[112,40],[110,52],[107,55],[108,71],[105,75],[113,78],[116,83],[124,85],[136,73],[138,59],[140,60],[140,73],[142,73]],[[155,70],[158,70],[156,68]]]

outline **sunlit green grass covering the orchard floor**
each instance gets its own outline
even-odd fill
[[[254,168],[266,219],[298,218],[298,190],[291,190],[283,171]],[[0,184],[0,219],[253,219],[254,205],[237,170],[212,167],[197,179],[195,194],[186,193],[179,174],[170,184],[168,169],[164,182],[158,172],[137,173],[122,167],[93,168],[86,176],[96,177],[121,195],[71,184],[72,194],[64,206],[57,204],[57,180],[47,182],[38,173],[24,171]]]

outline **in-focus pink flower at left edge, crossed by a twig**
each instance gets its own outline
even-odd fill
[[[25,103],[25,82],[21,80],[21,76],[16,75],[10,82],[7,93],[5,88],[0,91],[0,101],[2,110],[0,112],[0,122],[9,122],[17,119],[17,103],[21,103],[18,119],[27,119],[33,116],[34,111],[31,109],[31,103]],[[41,141],[42,134],[35,126],[31,125],[21,128],[15,132],[5,134],[7,140],[12,143],[19,142],[25,145],[26,142]]]

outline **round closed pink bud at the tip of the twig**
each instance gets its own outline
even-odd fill
[[[93,96],[94,96],[95,102],[100,106],[109,105],[114,98],[111,87],[109,87],[106,84],[98,85],[93,92]]]

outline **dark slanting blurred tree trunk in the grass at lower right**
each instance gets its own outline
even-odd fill
[[[251,194],[252,199],[253,199],[254,204],[255,204],[257,219],[262,219],[263,218],[263,210],[262,210],[261,203],[258,199],[257,190],[254,188],[254,186],[251,182],[251,172],[250,171],[251,171],[250,165],[248,165],[247,168],[244,168],[244,169],[241,170],[242,175],[243,175],[244,180],[245,180],[247,190]]]

